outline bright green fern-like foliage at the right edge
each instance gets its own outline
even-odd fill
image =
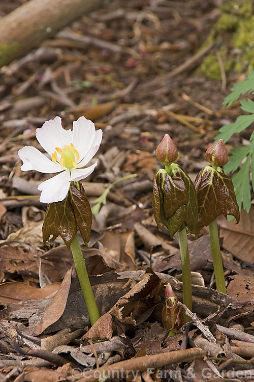
[[[230,106],[242,94],[254,93],[254,71],[251,71],[246,79],[235,84],[231,90],[231,93],[223,102],[224,106]],[[238,117],[234,123],[221,127],[215,141],[223,139],[224,143],[226,143],[234,133],[243,131],[252,122],[254,122],[254,102],[248,98],[242,100],[240,103],[241,109],[249,114],[242,115]],[[251,204],[249,186],[250,173],[252,179],[252,189],[254,189],[254,131],[250,136],[250,144],[248,146],[233,147],[229,157],[229,162],[226,166],[224,166],[224,170],[228,173],[233,173],[238,170],[238,172],[232,177],[237,203],[240,210],[243,205],[243,208],[249,212]]]

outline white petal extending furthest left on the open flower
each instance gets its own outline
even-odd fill
[[[22,171],[36,170],[41,173],[58,173],[62,167],[52,162],[41,151],[33,146],[25,146],[18,151],[18,156],[23,160]]]

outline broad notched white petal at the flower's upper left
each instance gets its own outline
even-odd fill
[[[42,127],[36,129],[36,138],[40,145],[50,155],[55,151],[56,147],[70,145],[72,142],[73,132],[65,130],[61,125],[61,118],[55,117],[46,121]]]

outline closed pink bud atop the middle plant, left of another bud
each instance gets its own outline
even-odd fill
[[[165,166],[169,166],[179,159],[178,149],[175,142],[170,138],[169,134],[165,134],[161,143],[155,150],[155,156],[159,162]]]

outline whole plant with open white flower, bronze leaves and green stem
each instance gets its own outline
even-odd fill
[[[59,173],[38,186],[41,191],[40,201],[48,203],[43,224],[43,241],[45,244],[52,242],[59,235],[71,249],[92,325],[100,314],[77,231],[80,231],[84,243],[87,244],[90,239],[92,213],[80,180],[90,175],[97,166],[96,161],[84,168],[100,147],[102,130],[96,130],[94,124],[85,117],[73,122],[73,130],[65,130],[61,126],[60,117],[55,117],[36,129],[36,138],[51,159],[35,147],[25,146],[18,151],[23,161],[21,170]]]

